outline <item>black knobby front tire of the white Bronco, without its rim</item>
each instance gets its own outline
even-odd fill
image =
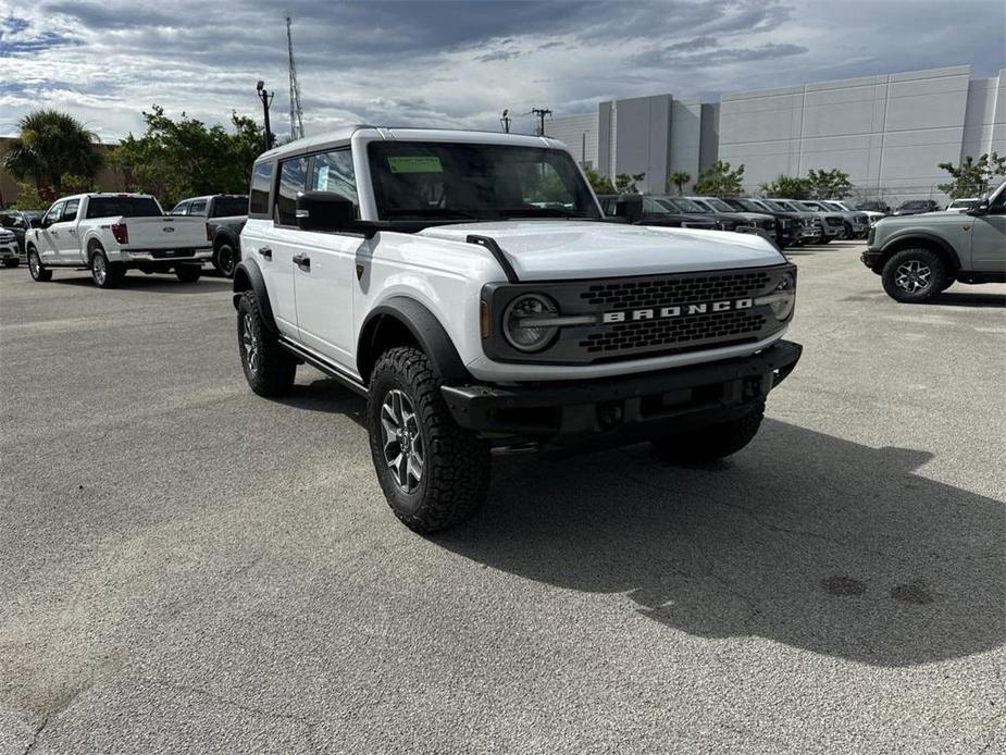
[[[423,502],[412,513],[394,505],[400,490],[388,476],[381,448],[380,416],[384,391],[375,389],[381,376],[396,375],[412,399],[426,449]],[[487,445],[458,426],[440,395],[442,381],[426,355],[413,347],[388,349],[374,364],[367,401],[371,455],[377,481],[395,516],[414,532],[446,530],[470,519],[485,503],[490,459]]]

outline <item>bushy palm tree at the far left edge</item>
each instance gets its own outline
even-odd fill
[[[14,177],[35,180],[38,189],[50,186],[60,194],[64,175],[94,178],[103,162],[95,147],[98,136],[73,115],[58,110],[36,110],[17,122],[21,135],[13,139],[0,163]]]

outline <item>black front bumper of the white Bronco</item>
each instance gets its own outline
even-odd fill
[[[621,445],[743,416],[796,367],[803,347],[603,380],[445,385],[455,421],[486,437],[542,445]]]

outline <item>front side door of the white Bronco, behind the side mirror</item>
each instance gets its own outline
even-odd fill
[[[349,148],[315,154],[308,165],[307,188],[332,191],[352,201],[360,216],[357,184]],[[301,189],[303,190],[303,189]],[[296,198],[295,198],[296,201]],[[288,222],[293,218],[289,205]],[[300,338],[314,350],[356,373],[353,359],[352,295],[359,234],[297,231],[294,286]]]

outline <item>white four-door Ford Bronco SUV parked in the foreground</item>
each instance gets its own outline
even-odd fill
[[[733,454],[800,346],[796,270],[752,235],[606,222],[561,143],[356,126],[254,164],[234,276],[263,396],[308,363],[367,397],[418,532],[471,516],[493,450]]]

